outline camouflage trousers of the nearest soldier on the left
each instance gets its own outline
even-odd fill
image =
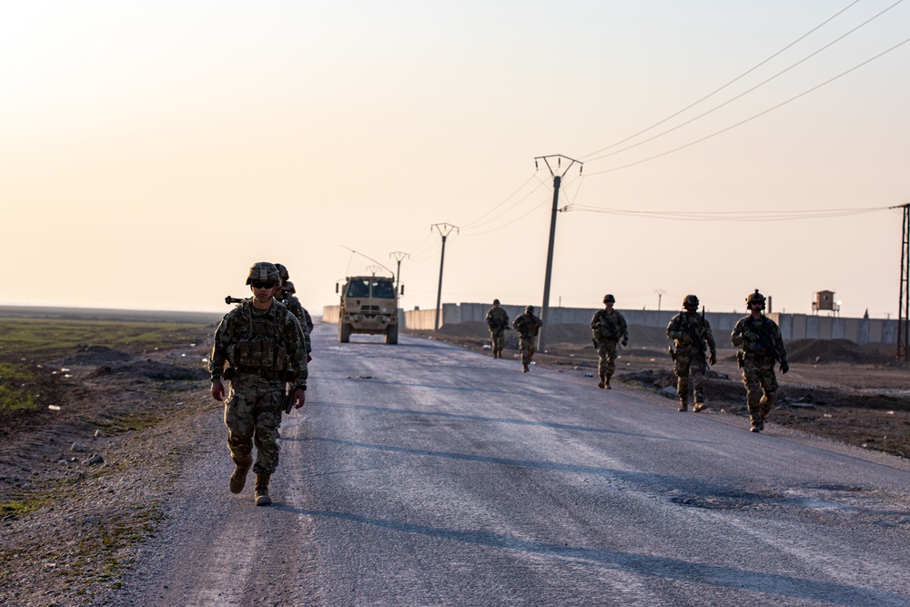
[[[278,425],[284,404],[285,384],[279,379],[257,376],[231,379],[225,400],[227,450],[240,468],[253,464],[256,473],[271,474],[278,468]]]

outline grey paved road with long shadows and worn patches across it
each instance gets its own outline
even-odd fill
[[[227,493],[213,415],[137,603],[910,604],[903,460],[434,340],[314,350],[278,503]]]

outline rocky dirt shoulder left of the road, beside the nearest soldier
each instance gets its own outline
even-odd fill
[[[0,602],[110,604],[217,405],[202,362],[213,333],[151,358],[79,346],[34,361],[55,409],[0,416]]]

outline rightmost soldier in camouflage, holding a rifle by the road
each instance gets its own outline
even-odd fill
[[[736,356],[743,368],[743,385],[752,432],[764,430],[764,419],[771,411],[777,394],[777,379],[774,377],[774,362],[781,363],[781,372],[790,370],[787,350],[781,329],[772,319],[765,317],[764,296],[755,289],[745,298],[749,316],[739,319],[730,334],[730,342],[741,349]],[[759,391],[761,390],[761,391]]]

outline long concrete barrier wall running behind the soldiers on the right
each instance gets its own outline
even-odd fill
[[[534,313],[541,315],[541,308],[536,304]],[[440,327],[462,322],[483,322],[491,308],[486,303],[463,302],[460,304],[442,304],[440,310]],[[524,313],[524,305],[503,304],[502,308],[509,314],[509,319]],[[548,325],[590,325],[594,312],[601,308],[551,308],[547,310]],[[622,309],[622,316],[630,325],[640,327],[666,328],[670,319],[679,310]],[[718,345],[729,343],[724,333],[729,335],[736,322],[745,316],[745,310],[739,312],[706,312],[705,319],[711,323],[714,339]],[[814,316],[806,314],[768,315],[781,328],[785,341],[796,339],[850,339],[858,344],[897,343],[897,320],[892,319],[845,319],[839,316]],[[325,306],[322,309],[323,322],[338,323],[339,306]],[[402,329],[435,329],[436,309],[399,310],[399,323]]]

